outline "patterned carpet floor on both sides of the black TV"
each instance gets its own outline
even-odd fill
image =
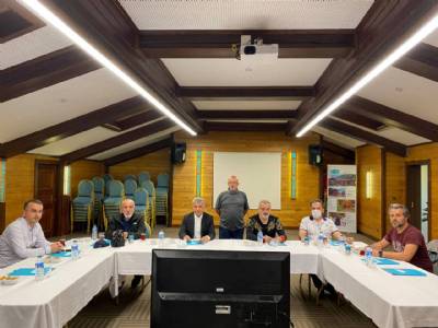
[[[154,234],[158,233],[155,229]],[[164,229],[166,236],[174,237],[176,229]],[[289,239],[297,236],[297,231],[287,232]],[[371,242],[366,236],[355,235],[356,239]],[[307,294],[308,280],[304,276],[302,286],[299,276],[291,276],[290,280],[290,313],[297,328],[366,328],[376,327],[372,321],[356,309],[350,303],[343,302],[339,306],[336,300],[322,298],[320,305],[315,304],[315,292],[312,288],[311,296]],[[148,279],[147,279],[148,280]],[[145,290],[130,289],[130,278],[122,289],[119,303],[115,304],[104,289],[85,306],[69,324],[68,327],[91,328],[135,328],[149,327],[150,315],[150,283]]]

